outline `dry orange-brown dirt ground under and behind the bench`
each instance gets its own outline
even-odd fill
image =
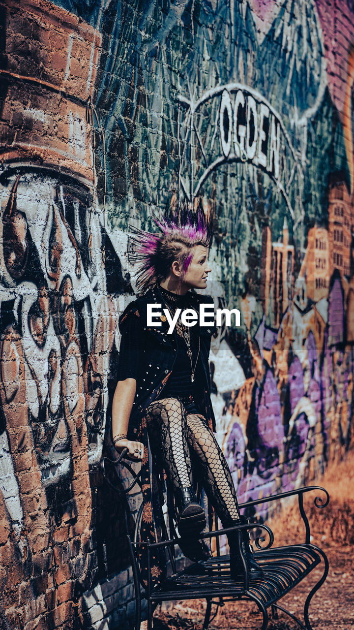
[[[329,491],[331,501],[324,510],[312,505],[307,495],[307,514],[312,542],[321,547],[329,559],[329,574],[314,595],[309,617],[314,630],[348,630],[354,626],[354,454],[340,464],[331,464],[318,485]],[[310,485],[310,484],[309,484]],[[314,495],[315,496],[315,495]],[[312,500],[314,498],[312,497]],[[268,523],[275,534],[275,546],[304,541],[304,528],[294,507]],[[289,612],[300,620],[307,594],[322,575],[321,564],[282,599]],[[178,602],[168,611],[156,610],[154,630],[202,630],[205,602]],[[270,610],[268,610],[270,613]],[[228,602],[219,609],[210,630],[258,630],[261,614],[251,602]],[[279,611],[271,618],[269,630],[294,630],[295,621]]]

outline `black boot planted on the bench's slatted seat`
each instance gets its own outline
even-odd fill
[[[235,525],[244,525],[248,523],[248,518],[245,516],[240,516],[239,522],[235,522]],[[230,547],[230,571],[232,580],[239,581],[240,578],[244,576],[244,568],[243,562],[241,560],[239,545],[237,541],[237,532],[233,532],[232,534],[228,534],[227,540],[229,541]],[[250,580],[254,580],[256,578],[263,578],[264,573],[261,569],[260,565],[256,563],[253,555],[251,553],[251,549],[249,548],[249,533],[247,529],[241,530],[241,554],[243,558],[246,560],[247,568],[248,568],[248,576]]]

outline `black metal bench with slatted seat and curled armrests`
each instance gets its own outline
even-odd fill
[[[273,533],[270,528],[264,524],[236,525],[230,529],[217,529],[200,536],[201,538],[215,539],[216,555],[205,561],[191,563],[183,570],[177,570],[175,546],[178,545],[178,537],[174,530],[173,515],[169,514],[168,518],[162,519],[163,536],[161,542],[144,543],[147,553],[147,562],[149,563],[153,553],[158,548],[163,548],[168,556],[169,575],[159,585],[153,585],[151,579],[147,579],[147,585],[144,585],[137,560],[137,550],[142,545],[139,542],[139,529],[142,517],[142,507],[137,513],[135,519],[135,532],[133,540],[129,533],[129,520],[131,518],[128,506],[127,495],[135,486],[140,486],[140,475],[135,473],[130,464],[123,459],[127,452],[125,449],[117,461],[111,461],[107,457],[103,458],[101,467],[105,479],[110,486],[117,491],[118,495],[123,499],[125,508],[125,524],[127,527],[127,539],[130,548],[130,556],[132,560],[132,571],[134,576],[135,587],[135,630],[140,630],[141,617],[141,600],[147,600],[147,627],[152,629],[152,614],[158,604],[164,601],[188,600],[188,599],[205,599],[207,600],[207,610],[203,623],[203,630],[206,630],[209,622],[214,619],[219,606],[230,600],[251,600],[255,602],[258,609],[263,615],[263,624],[261,630],[266,630],[268,626],[267,609],[271,607],[273,614],[275,609],[280,609],[288,616],[292,617],[300,627],[312,630],[309,621],[309,605],[314,593],[321,587],[326,576],[328,575],[328,559],[326,554],[310,542],[311,534],[309,521],[304,511],[304,494],[310,491],[322,491],[324,498],[316,496],[314,505],[317,508],[324,508],[328,505],[329,495],[324,488],[320,486],[307,486],[289,492],[280,493],[278,495],[267,496],[255,501],[241,503],[240,508],[251,508],[261,503],[271,503],[280,501],[288,496],[296,496],[299,501],[299,511],[305,525],[305,542],[283,547],[272,547]],[[130,483],[125,484],[125,488],[120,482],[119,466],[125,467],[132,475]],[[108,470],[108,468],[110,470]],[[140,486],[141,487],[141,486]],[[246,563],[244,563],[244,577],[240,581],[234,581],[230,575],[230,559],[228,555],[220,555],[220,536],[224,536],[229,530],[236,530],[239,533],[239,542],[241,544],[241,529],[252,530],[261,529],[262,537],[256,539],[255,544],[258,551],[254,552],[254,557],[263,568],[264,577],[257,580],[249,580]],[[171,531],[171,535],[168,534]],[[261,542],[265,542],[264,535],[268,535],[268,542],[261,547]],[[323,561],[323,575],[320,580],[307,595],[304,604],[304,623],[297,619],[292,613],[278,604],[283,595],[290,592],[305,576]],[[142,590],[140,589],[142,586]],[[212,605],[216,606],[215,614],[211,617]]]

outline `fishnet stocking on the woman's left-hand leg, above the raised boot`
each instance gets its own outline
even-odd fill
[[[147,430],[154,455],[163,459],[174,488],[193,487],[186,412],[176,398],[163,398],[146,410]]]

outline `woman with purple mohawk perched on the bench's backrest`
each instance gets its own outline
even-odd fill
[[[173,489],[181,549],[191,559],[205,559],[208,549],[198,535],[206,524],[195,496],[200,479],[223,527],[246,523],[239,513],[236,491],[224,454],[215,440],[215,418],[210,401],[208,355],[213,327],[195,322],[186,326],[179,318],[172,335],[166,316],[149,326],[147,304],[160,305],[174,316],[176,309],[199,312],[212,298],[191,292],[205,289],[212,217],[205,217],[202,203],[172,203],[162,219],[154,219],[159,233],[134,229],[135,256],[140,261],[137,289],[140,297],[120,317],[122,333],[118,383],[113,398],[113,444],[118,452],[142,461],[142,539],[156,538],[150,485],[148,444],[152,458],[162,466]],[[249,577],[263,572],[249,549],[243,530],[241,549]],[[231,576],[243,575],[236,532],[228,536]],[[151,567],[159,580],[158,559]]]

